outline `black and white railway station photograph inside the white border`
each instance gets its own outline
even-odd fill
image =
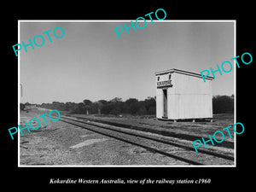
[[[236,166],[223,131],[236,20],[20,20],[19,32],[19,166]]]

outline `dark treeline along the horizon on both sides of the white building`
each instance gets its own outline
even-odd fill
[[[30,105],[30,103],[25,103]],[[59,111],[68,111],[69,113],[83,113],[83,114],[155,114],[156,104],[155,98],[149,97],[144,101],[138,101],[135,98],[131,98],[122,101],[121,98],[115,97],[110,101],[99,100],[97,102],[91,102],[85,99],[83,102],[52,102],[43,103],[37,105],[41,108],[57,109]],[[213,96],[212,97],[212,110],[213,113],[233,113],[234,112],[234,95],[232,96]]]

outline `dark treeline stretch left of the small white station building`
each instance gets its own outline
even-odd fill
[[[91,102],[85,99],[83,102],[52,102],[38,105],[41,108],[57,109],[60,111],[69,111],[70,113],[102,113],[102,114],[155,114],[155,100],[153,97],[148,97],[144,101],[138,101],[131,98],[122,101],[121,98],[115,97],[110,101],[99,100]]]

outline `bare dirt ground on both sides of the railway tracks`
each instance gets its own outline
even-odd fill
[[[24,121],[38,115],[49,113],[48,110],[32,108],[20,113],[20,126]],[[62,114],[62,113],[61,113]],[[174,160],[161,154],[148,152],[144,148],[133,146],[110,137],[105,137],[92,131],[87,131],[68,125],[61,121],[53,122],[49,116],[40,118],[41,127],[38,130],[20,135],[20,166],[183,166],[182,161]],[[87,117],[88,118],[88,117]],[[219,115],[211,122],[166,122],[153,118],[136,117],[96,117],[104,120],[117,121],[131,125],[140,125],[154,129],[168,129],[183,134],[207,135],[233,124],[230,115]],[[37,121],[32,121],[33,127],[38,127]],[[232,139],[230,140],[232,142]]]

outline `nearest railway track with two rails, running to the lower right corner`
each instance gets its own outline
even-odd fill
[[[166,137],[155,136],[154,134],[148,135],[143,131],[127,130],[118,126],[103,125],[88,120],[71,119],[65,116],[61,116],[60,120],[70,125],[76,125],[80,128],[118,139],[125,143],[146,148],[150,152],[183,161],[185,164],[198,166],[234,165],[234,157],[230,155],[204,149],[199,149],[199,153],[195,153],[194,148],[183,143],[177,143],[177,141],[173,141],[171,137],[167,139]]]

